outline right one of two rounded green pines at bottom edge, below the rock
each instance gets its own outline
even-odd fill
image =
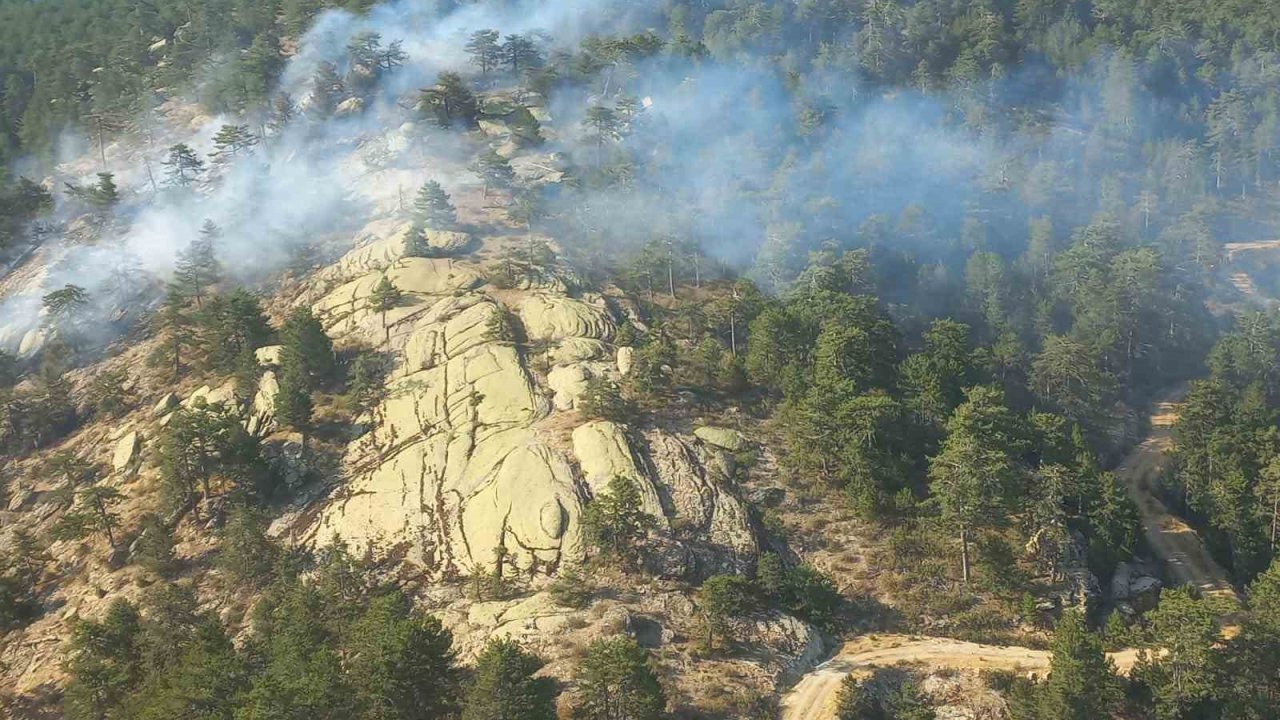
[[[649,653],[631,638],[593,642],[575,676],[576,720],[658,720],[666,711],[666,693],[649,666]]]

